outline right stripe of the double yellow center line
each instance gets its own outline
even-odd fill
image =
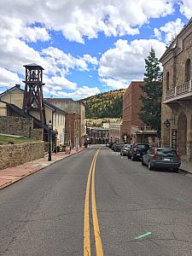
[[[99,154],[99,150],[96,153]],[[92,218],[93,218],[93,228],[94,228],[94,235],[95,235],[95,242],[96,242],[96,256],[103,256],[102,250],[102,239],[99,230],[99,222],[96,212],[96,191],[95,191],[95,173],[96,173],[96,158],[93,165],[93,172],[92,172],[92,186],[91,186],[91,201],[92,201]]]

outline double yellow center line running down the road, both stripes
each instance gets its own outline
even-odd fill
[[[96,159],[99,154],[98,149],[90,165],[90,172],[87,178],[87,186],[84,202],[84,256],[90,256],[90,179],[91,179],[91,204],[94,236],[96,243],[96,256],[103,256],[102,239],[99,230],[99,222],[96,212],[96,191],[95,191],[95,172]]]

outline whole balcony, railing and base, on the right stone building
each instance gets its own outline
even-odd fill
[[[192,83],[188,82],[175,86],[170,90],[165,91],[164,103],[174,103],[178,100],[191,100],[192,99]]]

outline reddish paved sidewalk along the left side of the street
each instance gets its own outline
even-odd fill
[[[46,166],[50,166],[59,160],[65,159],[73,154],[77,154],[82,150],[84,150],[84,148],[78,148],[78,152],[76,149],[72,149],[71,154],[65,154],[65,152],[59,152],[57,154],[53,153],[51,161],[48,161],[48,154],[46,154],[44,158],[27,162],[21,166],[14,166],[0,170],[0,189],[17,182],[34,172],[38,172],[44,169]]]

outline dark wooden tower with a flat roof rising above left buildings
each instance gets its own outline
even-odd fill
[[[33,113],[32,115],[40,120],[41,126],[43,127],[43,125],[46,125],[42,90],[42,86],[44,85],[44,68],[35,63],[23,67],[26,67],[26,80],[23,81],[25,83],[23,110],[26,113]]]

